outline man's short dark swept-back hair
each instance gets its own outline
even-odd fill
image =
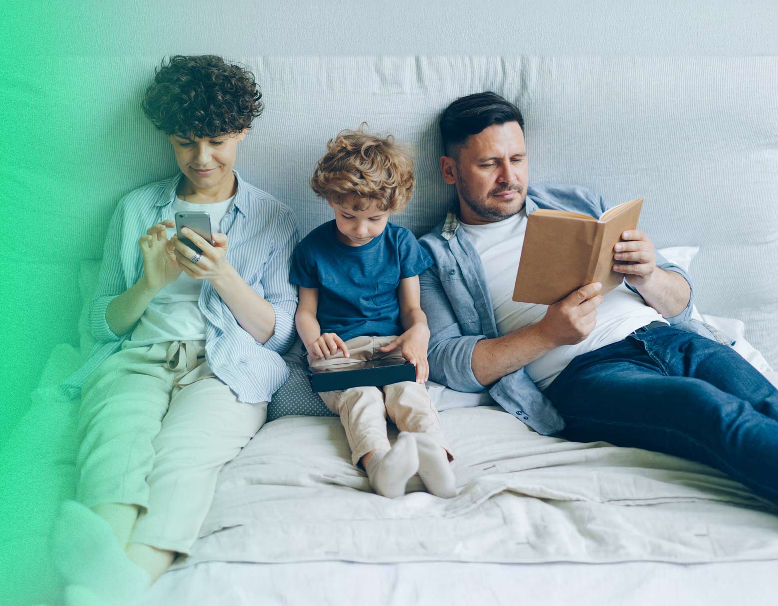
[[[440,134],[446,156],[457,158],[470,135],[477,135],[492,124],[518,122],[524,131],[524,117],[518,107],[497,93],[486,91],[461,96],[440,116]]]

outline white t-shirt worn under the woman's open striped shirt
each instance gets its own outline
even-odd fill
[[[220,232],[224,215],[230,209],[233,198],[214,204],[193,204],[176,198],[170,205],[173,219],[179,211],[205,211],[211,215],[211,230]],[[167,237],[175,235],[176,229],[168,228]],[[190,278],[184,271],[174,282],[166,285],[149,303],[143,312],[126,347],[151,345],[163,341],[205,340],[205,317],[198,307],[202,280]]]

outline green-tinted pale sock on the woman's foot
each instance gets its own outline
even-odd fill
[[[66,601],[72,604],[97,604],[98,598],[106,604],[131,604],[151,583],[149,573],[124,553],[110,524],[75,501],[60,507],[51,531],[51,555],[71,586]]]

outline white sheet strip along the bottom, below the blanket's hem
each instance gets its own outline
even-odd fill
[[[778,562],[209,562],[166,573],[141,606],[774,606]]]

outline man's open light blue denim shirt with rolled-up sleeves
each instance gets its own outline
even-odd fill
[[[527,215],[538,208],[555,208],[600,217],[611,205],[584,187],[558,184],[534,184],[527,187]],[[475,344],[482,338],[497,338],[492,299],[481,257],[464,229],[457,229],[459,219],[451,210],[420,243],[435,265],[419,276],[421,302],[429,332],[429,378],[457,391],[483,391],[471,367]],[[689,286],[689,275],[678,265],[657,254],[657,266],[681,274]],[[629,287],[629,285],[627,285]],[[631,288],[631,287],[630,287]],[[631,288],[632,289],[632,288]],[[635,289],[632,289],[635,291]],[[637,291],[635,291],[637,292]],[[697,331],[688,326],[692,314],[692,296],[680,314],[665,318],[670,324]],[[507,412],[545,436],[558,433],[565,423],[548,398],[519,369],[496,381],[489,394]]]

